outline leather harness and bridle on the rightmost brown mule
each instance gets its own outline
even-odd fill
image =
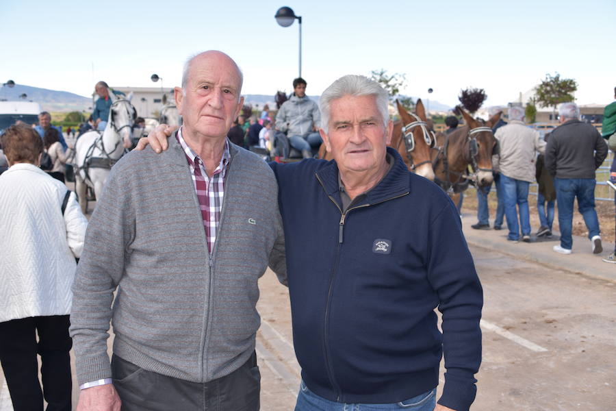
[[[445,173],[445,180],[441,180],[438,177],[434,178],[434,182],[438,184],[443,190],[446,192],[461,192],[468,188],[471,182],[476,182],[477,172],[478,171],[489,171],[492,169],[483,169],[478,166],[476,157],[479,154],[479,146],[477,143],[476,134],[481,132],[490,132],[492,133],[492,129],[490,127],[481,126],[475,127],[474,129],[470,129],[466,138],[468,143],[468,151],[467,151],[467,160],[470,160],[470,166],[472,168],[472,173],[459,173],[457,171],[450,170],[449,162],[448,162],[448,149],[449,149],[449,134],[445,134],[445,144],[443,147],[434,147],[433,149],[437,150],[437,155],[435,156],[432,167],[436,169],[439,160],[443,163],[443,171]],[[456,175],[457,179],[455,182],[451,181],[451,175]]]

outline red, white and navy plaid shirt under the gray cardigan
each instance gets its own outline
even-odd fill
[[[216,233],[220,226],[220,211],[222,210],[222,199],[224,199],[224,177],[227,175],[229,164],[229,141],[224,143],[224,152],[220,159],[220,164],[214,170],[214,174],[209,178],[205,172],[205,164],[199,156],[186,144],[182,137],[182,128],[177,132],[177,140],[180,143],[188,164],[194,190],[196,191],[201,216],[203,217],[203,227],[205,227],[205,237],[207,238],[207,250],[211,253],[216,241]]]

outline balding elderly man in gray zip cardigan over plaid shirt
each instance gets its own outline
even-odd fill
[[[112,169],[73,286],[78,410],[259,409],[257,280],[285,275],[284,243],[271,169],[227,140],[241,88],[229,56],[194,56],[168,151]]]

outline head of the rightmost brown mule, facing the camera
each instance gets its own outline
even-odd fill
[[[458,107],[458,110],[469,127],[467,136],[468,156],[473,172],[477,175],[477,184],[478,186],[487,186],[493,180],[492,154],[496,147],[496,138],[492,132],[492,126],[500,119],[500,112],[483,125],[473,119],[463,108]]]

